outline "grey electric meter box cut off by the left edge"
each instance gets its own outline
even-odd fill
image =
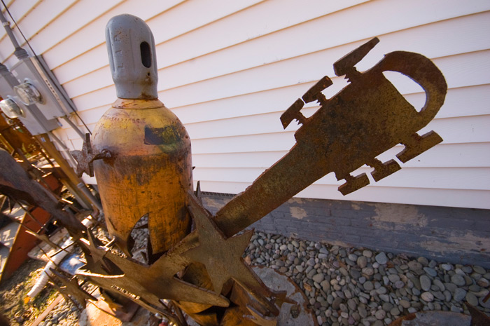
[[[15,92],[18,80],[8,69],[0,65],[0,109],[10,118],[19,118],[32,135],[39,135],[59,127],[55,118],[46,118],[36,105],[24,104]],[[29,92],[29,90],[27,90]]]

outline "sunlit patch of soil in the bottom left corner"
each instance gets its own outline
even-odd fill
[[[27,292],[41,275],[45,262],[29,259],[8,280],[0,284],[0,313],[10,320],[11,326],[31,325],[44,309],[57,297],[52,287],[45,287],[34,300],[25,304]]]

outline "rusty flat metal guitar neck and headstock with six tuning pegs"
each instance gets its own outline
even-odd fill
[[[334,64],[336,74],[345,74],[350,81],[337,95],[327,100],[320,93],[331,84],[325,76],[281,116],[284,127],[293,119],[302,123],[295,133],[296,144],[216,213],[216,224],[226,236],[244,229],[330,172],[346,180],[339,186],[346,195],[369,184],[364,173],[350,174],[364,164],[374,168],[371,174],[375,181],[400,170],[394,160],[382,163],[376,159],[391,147],[405,145],[397,154],[405,163],[442,141],[433,131],[423,136],[416,132],[444,103],[444,76],[426,57],[402,51],[388,53],[371,69],[358,72],[353,64],[377,42],[372,39]],[[400,72],[419,83],[427,98],[421,111],[398,93],[384,77],[386,71]],[[314,100],[321,107],[305,118],[300,109],[304,102]]]

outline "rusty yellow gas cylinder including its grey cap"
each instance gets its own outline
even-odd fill
[[[148,25],[132,15],[118,15],[106,27],[106,41],[118,100],[92,135],[95,151],[111,153],[111,158],[94,161],[106,224],[129,253],[130,233],[148,215],[151,249],[158,254],[190,230],[190,139],[179,118],[158,100],[155,44]]]

